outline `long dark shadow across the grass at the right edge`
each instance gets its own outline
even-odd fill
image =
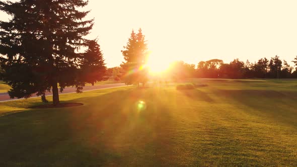
[[[293,92],[273,90],[217,90],[222,96],[244,106],[252,108],[250,114],[273,119],[297,128],[297,95]]]

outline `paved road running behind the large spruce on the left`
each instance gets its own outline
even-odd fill
[[[100,90],[100,89],[116,88],[116,87],[123,87],[123,86],[125,86],[124,83],[97,85],[97,86],[84,87],[83,91]],[[64,91],[59,94],[68,94],[68,93],[74,93],[74,92],[76,92],[76,88],[65,88]],[[52,93],[47,92],[45,95],[49,96],[49,95],[52,95]],[[37,96],[33,94],[32,97],[37,97]],[[17,99],[11,99],[8,93],[0,93],[0,102],[9,101],[9,100],[17,100]]]

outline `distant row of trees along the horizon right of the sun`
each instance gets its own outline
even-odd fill
[[[297,66],[297,56],[292,61]],[[224,63],[219,59],[200,61],[195,68],[194,64],[183,61],[174,62],[168,74],[174,79],[186,77],[201,78],[297,78],[297,68],[290,66],[287,61],[280,60],[279,56],[270,59],[261,58],[251,63],[234,59],[230,63]]]

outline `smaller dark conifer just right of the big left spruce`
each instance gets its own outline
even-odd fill
[[[94,86],[94,82],[101,81],[106,72],[103,54],[96,40],[89,42],[89,48],[81,61],[81,76],[84,82]]]

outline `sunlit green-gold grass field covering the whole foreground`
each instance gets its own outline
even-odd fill
[[[297,166],[297,80],[193,82],[0,103],[0,166]]]

